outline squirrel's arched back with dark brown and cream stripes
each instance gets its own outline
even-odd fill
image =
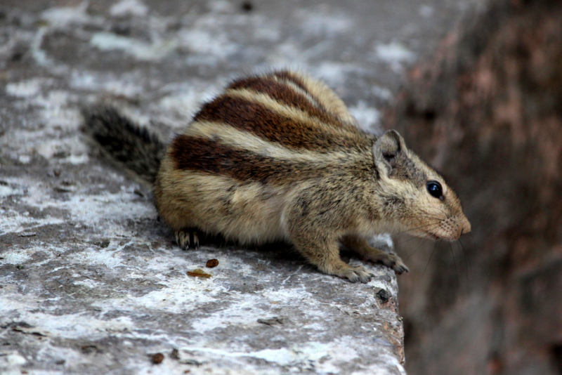
[[[320,81],[281,71],[239,79],[176,137],[176,169],[290,183],[341,169],[372,147],[344,103]]]

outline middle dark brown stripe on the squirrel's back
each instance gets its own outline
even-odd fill
[[[219,96],[211,103],[205,104],[193,121],[221,122],[293,149],[328,152],[365,148],[368,144],[367,137],[360,134],[350,134],[348,137],[334,135],[327,129],[295,121],[268,110],[260,103],[228,96]]]

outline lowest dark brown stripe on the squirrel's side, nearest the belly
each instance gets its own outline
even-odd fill
[[[273,159],[236,150],[214,140],[184,135],[172,141],[169,155],[176,169],[213,173],[241,181],[290,183],[302,178],[313,178],[322,171],[312,163]]]

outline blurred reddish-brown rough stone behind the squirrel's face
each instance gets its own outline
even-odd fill
[[[473,228],[429,263],[433,246],[414,245],[400,280],[411,373],[560,374],[561,19],[560,1],[490,2],[411,71],[388,119]]]

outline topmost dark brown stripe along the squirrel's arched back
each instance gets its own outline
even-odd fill
[[[228,88],[232,88],[234,90],[248,88],[258,93],[264,93],[270,96],[270,98],[277,100],[277,102],[291,107],[296,107],[299,110],[320,119],[320,121],[336,123],[341,126],[341,121],[339,119],[326,112],[323,108],[313,105],[313,103],[311,103],[311,101],[308,100],[308,98],[306,98],[306,96],[302,93],[295,91],[286,84],[275,81],[273,78],[250,77],[247,79],[240,79],[230,84]]]

